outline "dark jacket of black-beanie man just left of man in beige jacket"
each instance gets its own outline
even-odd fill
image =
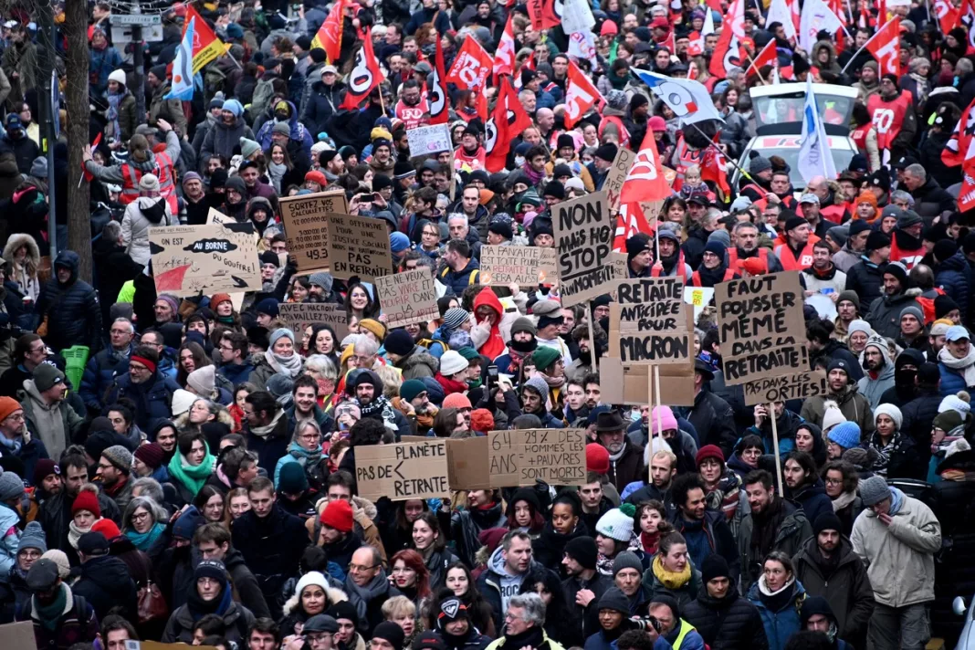
[[[867,623],[874,611],[874,590],[867,577],[867,567],[853,553],[853,546],[844,536],[840,538],[839,561],[827,569],[815,538],[805,541],[793,557],[796,580],[809,595],[821,595],[830,601],[837,616],[839,636],[844,639],[860,636],[867,631]],[[829,571],[829,572],[827,572]]]

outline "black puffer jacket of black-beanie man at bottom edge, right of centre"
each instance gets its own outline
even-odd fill
[[[731,579],[723,598],[708,593],[702,585],[697,598],[681,608],[681,618],[694,626],[711,650],[768,650],[768,639],[755,605],[738,594]]]

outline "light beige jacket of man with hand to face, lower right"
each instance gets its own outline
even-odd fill
[[[865,510],[850,535],[853,551],[867,563],[874,599],[888,607],[934,599],[934,554],[941,551],[941,524],[931,509],[903,492],[900,498],[890,525]]]

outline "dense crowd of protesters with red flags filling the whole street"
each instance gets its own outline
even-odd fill
[[[975,592],[970,2],[259,4],[176,3],[133,44],[126,3],[89,3],[91,112],[58,107],[90,125],[84,170],[63,134],[53,169],[42,154],[37,17],[0,27],[0,624],[31,622],[38,650],[955,645]],[[634,70],[692,80],[720,120]],[[837,177],[761,142],[786,132],[753,91],[807,81],[856,91],[819,106]],[[797,138],[801,107],[772,109]],[[445,123],[452,150],[410,156]],[[692,402],[608,403],[610,293],[485,284],[483,247],[555,247],[555,208],[606,189],[624,148],[673,172],[619,210],[629,277],[797,273],[825,395],[746,405],[712,303]],[[78,183],[91,281],[64,246]],[[386,224],[388,273],[428,271],[437,318],[389,327],[371,284],[298,272],[279,199],[322,191]],[[157,292],[150,231],[213,210],[251,224],[260,290]],[[289,328],[302,302],[344,323]],[[581,485],[359,490],[369,445],[562,428],[585,431]]]

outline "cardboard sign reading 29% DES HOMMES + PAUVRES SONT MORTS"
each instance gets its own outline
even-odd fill
[[[492,431],[487,439],[491,487],[586,482],[584,429]]]

